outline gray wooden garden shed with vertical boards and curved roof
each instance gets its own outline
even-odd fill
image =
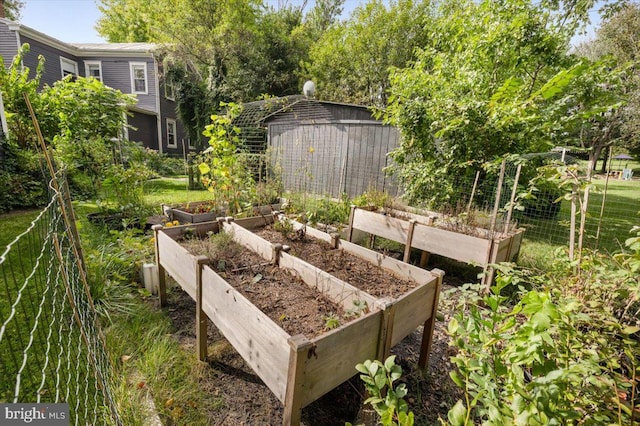
[[[384,169],[398,131],[365,106],[288,96],[245,104],[235,124],[250,153],[267,153],[286,190],[334,198],[372,189],[397,195]]]

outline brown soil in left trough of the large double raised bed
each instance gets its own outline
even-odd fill
[[[289,335],[304,334],[311,338],[326,331],[331,318],[340,319],[342,323],[342,306],[300,278],[265,262],[226,234],[214,235],[211,240],[213,247],[208,240],[196,239],[187,240],[183,245],[193,254],[209,256],[210,266],[225,281]]]

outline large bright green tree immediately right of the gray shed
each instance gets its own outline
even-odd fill
[[[439,5],[429,45],[413,64],[392,72],[385,114],[402,134],[393,158],[411,200],[446,201],[455,179],[472,176],[481,164],[506,153],[546,151],[564,136],[560,95],[585,72],[574,68],[568,42],[585,5],[564,6]]]

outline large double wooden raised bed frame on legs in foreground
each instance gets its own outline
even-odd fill
[[[154,226],[160,304],[166,304],[166,272],[196,301],[197,352],[201,360],[207,357],[208,317],[284,404],[283,425],[299,425],[303,407],[354,376],[356,364],[367,359],[384,360],[392,346],[420,325],[424,329],[418,364],[426,370],[444,272],[426,271],[309,228],[316,238],[332,241],[338,249],[417,282],[414,289],[398,298],[376,299],[249,230],[272,222],[273,216],[268,215],[170,228]],[[345,308],[351,308],[353,300],[364,300],[370,311],[317,336],[290,336],[206,265],[206,256],[194,256],[176,241],[187,228],[201,237],[208,232],[228,232],[244,247],[291,270]]]

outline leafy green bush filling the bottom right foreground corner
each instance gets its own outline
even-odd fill
[[[634,239],[630,239],[632,243]],[[612,260],[561,252],[544,275],[503,270],[489,294],[467,286],[449,323],[453,425],[633,424],[640,415],[640,247]],[[472,290],[472,291],[469,291]],[[505,296],[513,293],[513,299]],[[466,293],[466,294],[465,294]]]

